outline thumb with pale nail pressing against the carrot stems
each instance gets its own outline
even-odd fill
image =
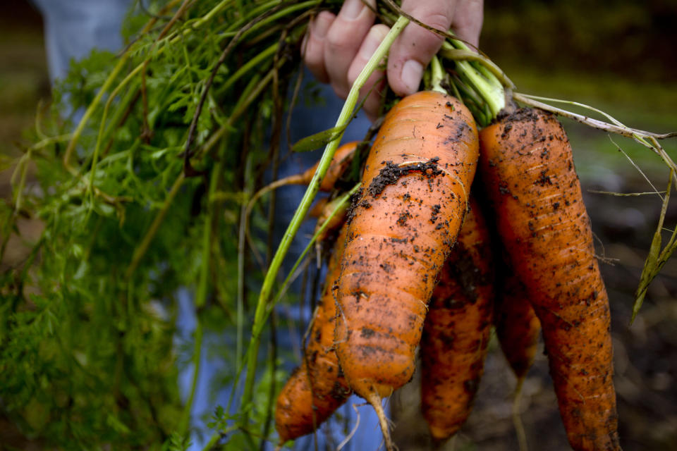
[[[453,20],[455,0],[403,0],[402,10],[422,23],[447,31]],[[388,82],[401,96],[418,90],[423,68],[441,47],[442,38],[415,23],[405,27],[388,56]]]

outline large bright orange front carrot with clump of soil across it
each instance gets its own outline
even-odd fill
[[[349,216],[336,299],[336,352],[350,387],[372,404],[391,450],[381,398],[415,368],[427,302],[467,209],[477,161],[468,109],[417,92],[386,115]]]

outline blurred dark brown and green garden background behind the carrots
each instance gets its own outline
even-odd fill
[[[590,104],[635,128],[677,130],[677,1],[497,1],[485,3],[481,49],[519,92]],[[0,15],[0,169],[25,143],[39,102],[49,101],[42,18],[26,0],[4,2]],[[566,108],[570,108],[566,106]],[[573,109],[573,107],[571,107]],[[657,156],[630,140],[563,120],[597,237],[597,254],[611,299],[618,414],[623,449],[677,449],[677,261],[669,261],[640,315],[630,321],[634,290],[652,240],[668,173]],[[677,140],[664,142],[676,158]],[[619,152],[622,149],[623,152]],[[632,163],[631,163],[632,161]],[[641,172],[640,172],[641,171]],[[0,196],[11,196],[11,171],[0,172]],[[650,182],[650,183],[649,183]],[[665,228],[677,224],[671,205]],[[20,221],[26,240],[39,224]],[[6,261],[25,252],[11,240]],[[2,266],[0,266],[1,268]],[[456,450],[516,450],[511,420],[515,379],[495,342],[468,423]],[[394,396],[401,450],[428,449],[417,420],[415,384]],[[532,450],[568,450],[547,361],[542,353],[527,375],[522,420]],[[451,444],[448,445],[451,449]],[[42,449],[6,421],[0,408],[0,450]]]

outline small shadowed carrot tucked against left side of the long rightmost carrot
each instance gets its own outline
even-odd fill
[[[499,271],[494,302],[494,326],[501,350],[511,369],[522,381],[534,363],[541,322],[529,301],[527,288],[509,265]]]

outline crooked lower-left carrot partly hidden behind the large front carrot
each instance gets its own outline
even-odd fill
[[[334,351],[336,303],[332,287],[338,278],[338,261],[346,242],[346,227],[336,238],[329,261],[322,300],[315,310],[303,364],[282,388],[275,410],[280,444],[311,433],[350,396]]]

